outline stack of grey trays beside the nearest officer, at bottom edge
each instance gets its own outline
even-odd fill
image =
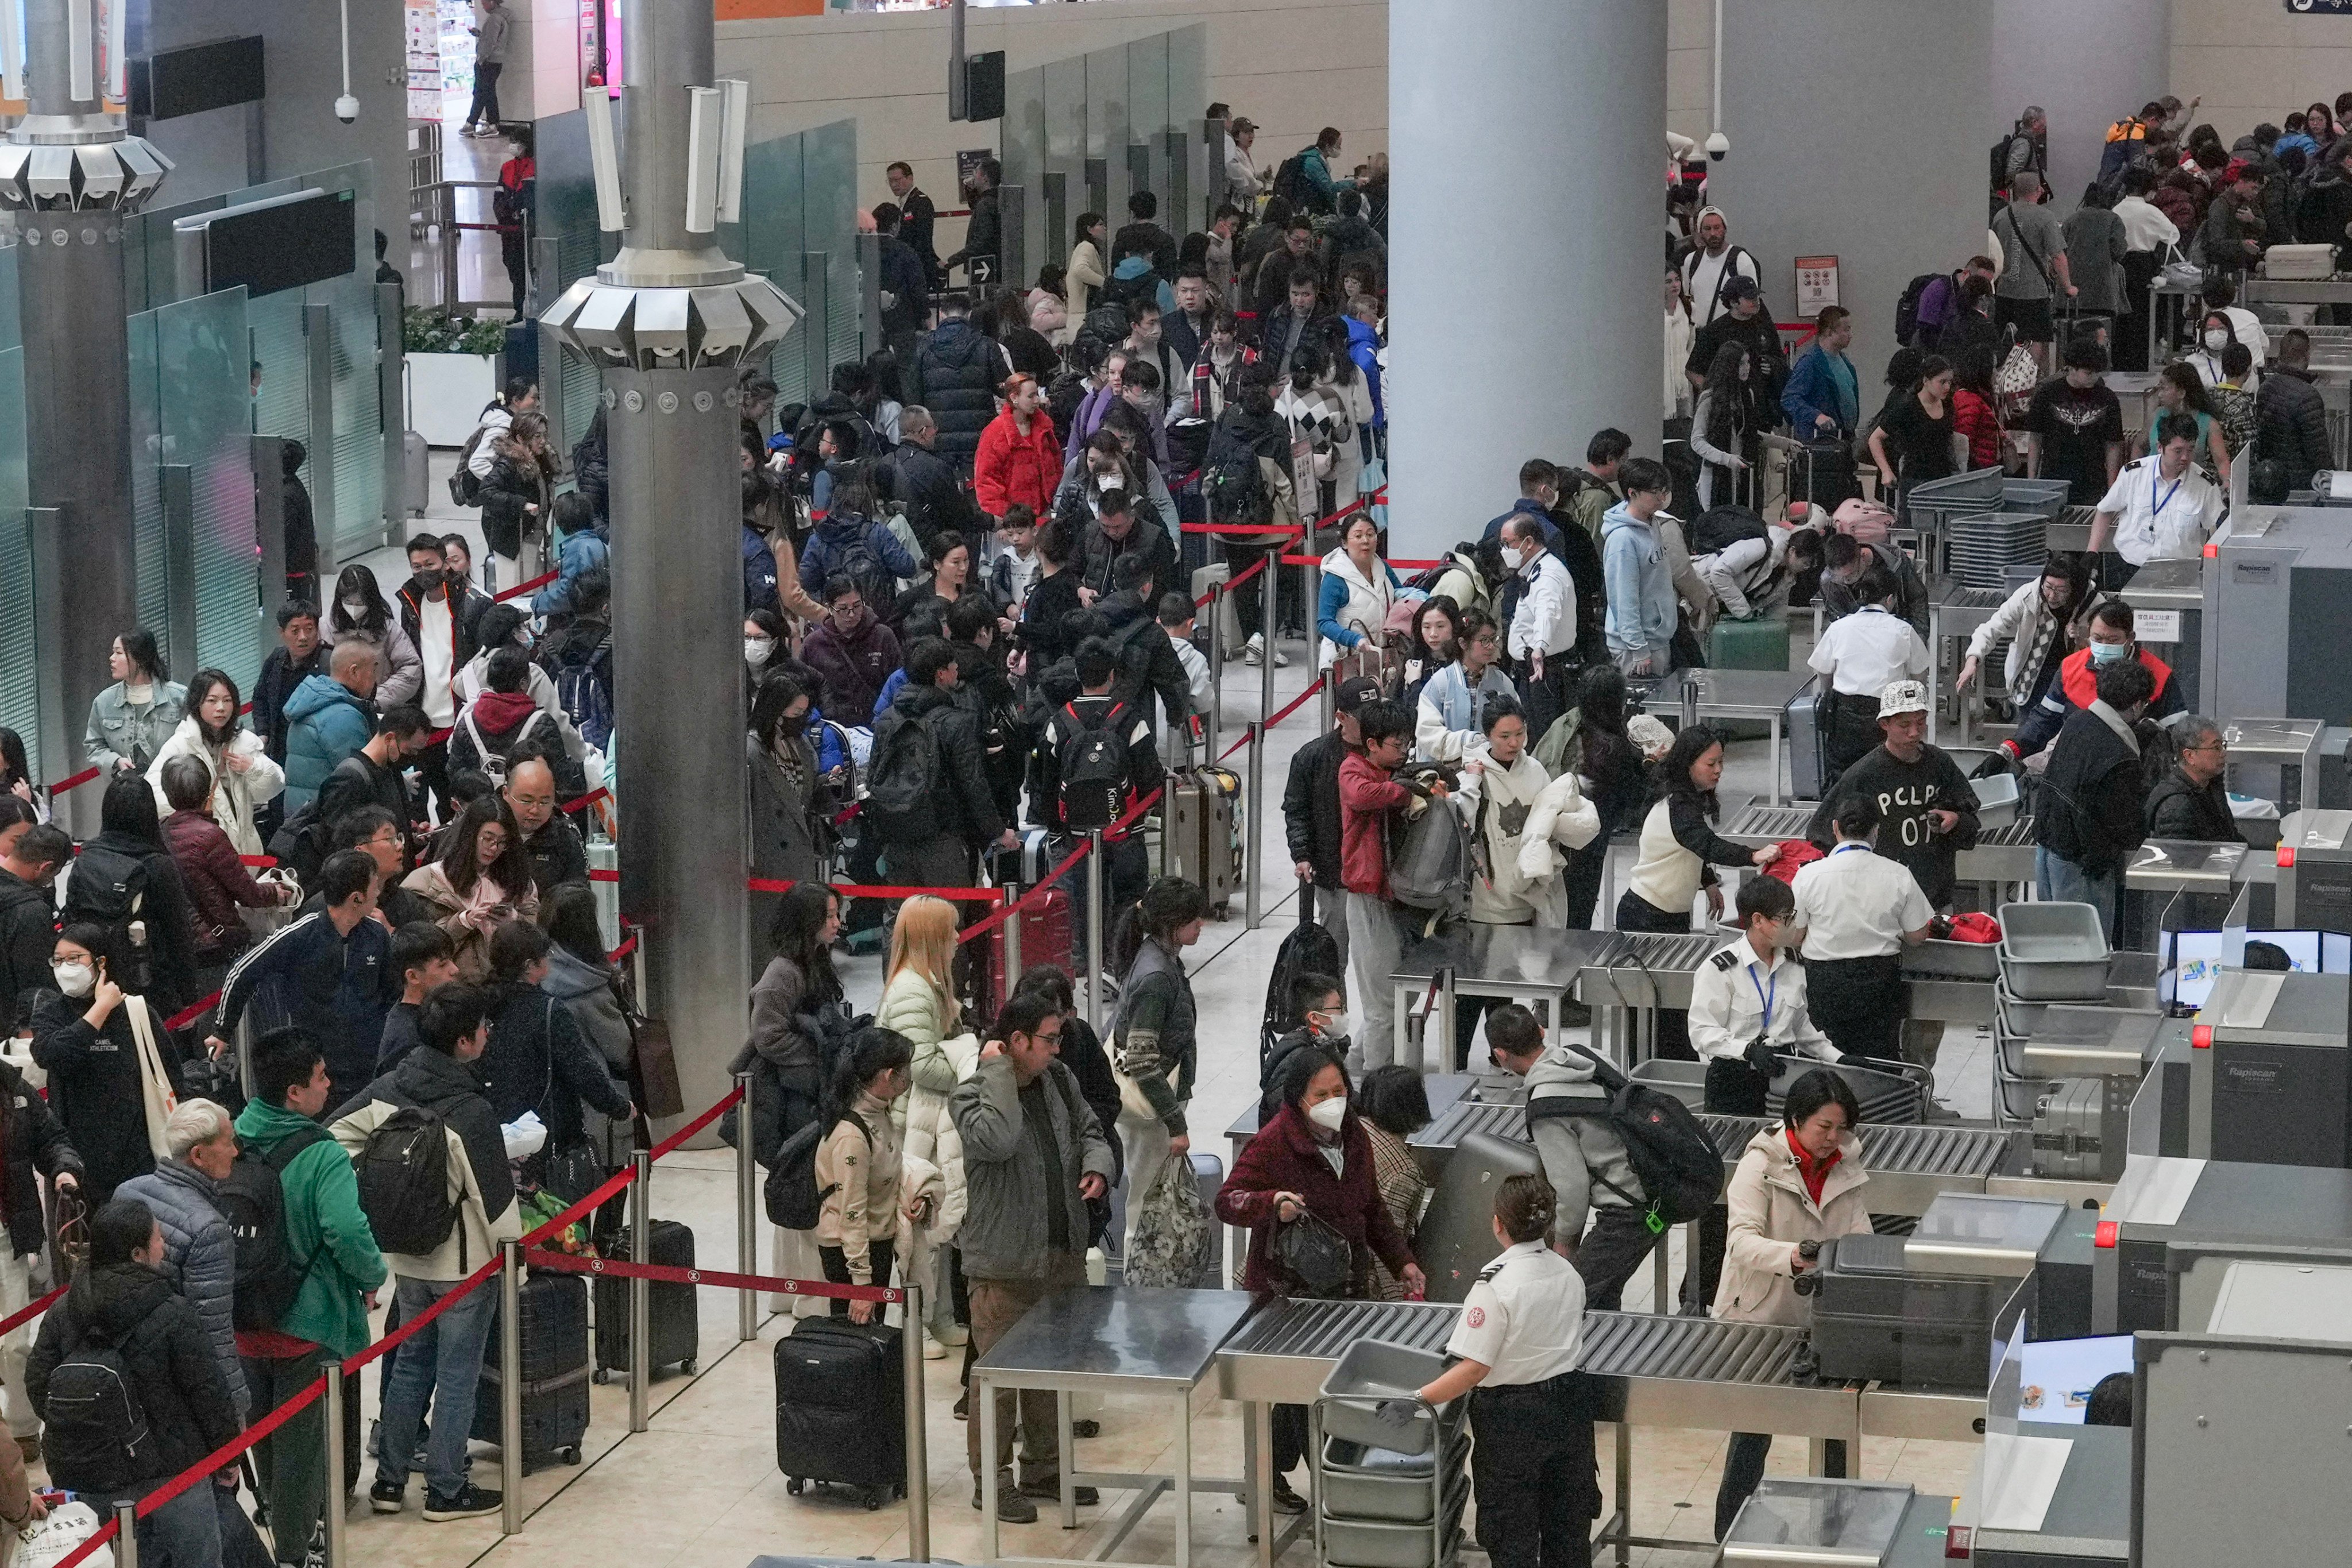
[[[1446,1568],[1470,1502],[1463,1406],[1421,1387],[1446,1359],[1357,1340],[1315,1401],[1315,1561],[1324,1568]]]

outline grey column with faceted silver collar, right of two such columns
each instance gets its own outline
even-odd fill
[[[715,242],[713,0],[628,0],[621,252],[543,317],[604,371],[612,440],[614,745],[621,917],[644,940],[642,1006],[670,1025],[689,1110],[729,1088],[750,990],[743,686],[680,682],[739,668],[743,637],[736,367],[800,308]],[[590,106],[595,113],[600,106]],[[713,108],[703,96],[703,110]],[[703,205],[689,200],[703,193]]]

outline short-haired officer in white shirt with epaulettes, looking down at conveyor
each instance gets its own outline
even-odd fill
[[[1691,1048],[1708,1065],[1705,1107],[1715,1117],[1766,1114],[1764,1093],[1780,1053],[1839,1060],[1806,1011],[1804,964],[1783,947],[1797,896],[1778,877],[1750,877],[1738,912],[1748,936],[1691,978]]]

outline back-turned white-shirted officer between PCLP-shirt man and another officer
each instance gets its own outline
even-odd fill
[[[1903,1056],[1903,947],[1924,943],[1936,910],[1919,879],[1872,851],[1879,802],[1849,795],[1830,818],[1837,846],[1797,872],[1797,938],[1813,1023],[1844,1056]]]

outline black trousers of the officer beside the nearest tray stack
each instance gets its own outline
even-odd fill
[[[1494,1568],[1590,1568],[1602,1512],[1592,1420],[1599,1382],[1562,1373],[1545,1382],[1470,1394],[1470,1486],[1477,1544]]]

